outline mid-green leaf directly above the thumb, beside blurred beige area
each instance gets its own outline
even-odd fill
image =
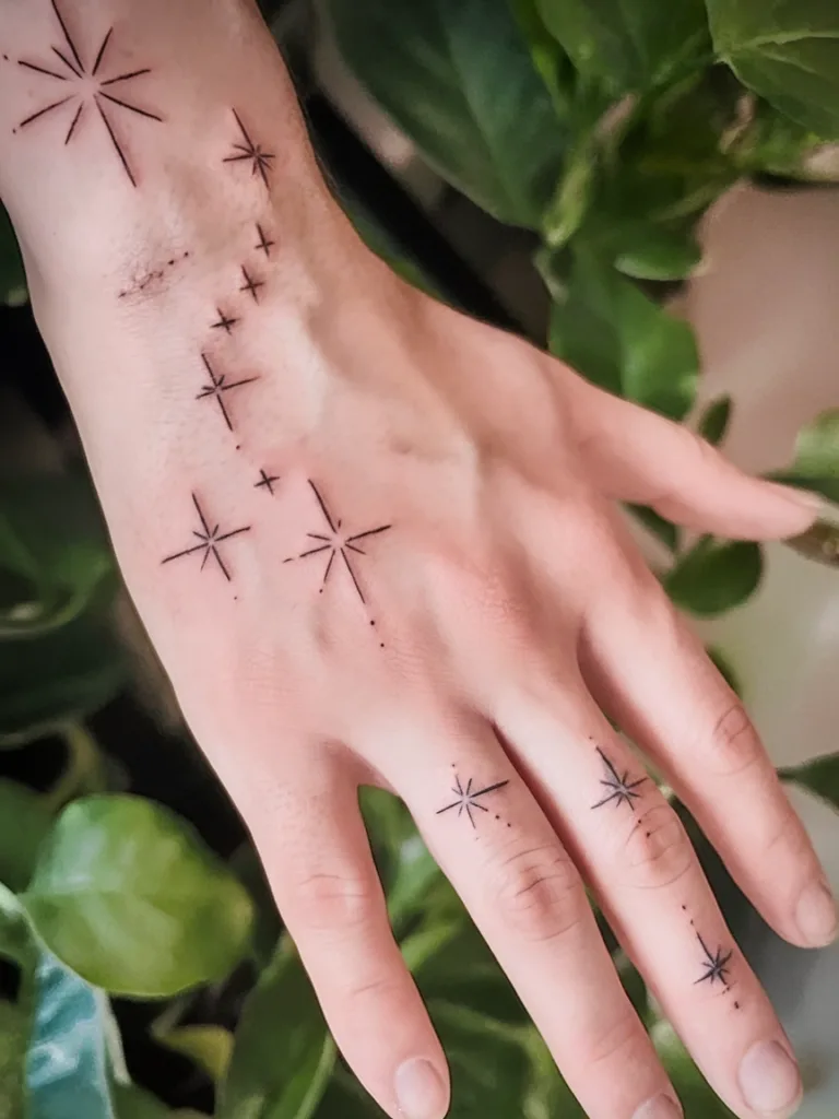
[[[690,410],[699,355],[687,322],[633,283],[578,251],[564,302],[555,303],[550,349],[609,392],[675,420]]]

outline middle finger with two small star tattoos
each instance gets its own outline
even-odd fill
[[[499,709],[614,931],[706,1078],[743,1119],[790,1115],[801,1092],[772,1006],[726,928],[681,821],[582,680],[508,684]],[[754,1054],[777,1053],[776,1096]],[[767,1072],[767,1076],[770,1073]],[[761,1092],[764,1096],[761,1096]],[[786,1109],[786,1110],[784,1110]]]

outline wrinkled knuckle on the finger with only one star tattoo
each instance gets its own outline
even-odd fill
[[[501,922],[528,941],[569,932],[587,909],[579,876],[555,844],[517,852],[497,866],[491,880]]]

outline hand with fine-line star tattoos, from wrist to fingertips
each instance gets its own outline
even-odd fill
[[[97,438],[130,584],[338,1044],[390,1115],[444,1115],[444,1056],[359,815],[359,784],[378,784],[404,798],[588,1115],[678,1111],[584,882],[727,1104],[790,1113],[790,1044],[607,716],[783,937],[824,943],[835,910],[747,716],[610,501],[769,538],[804,529],[810,499],[347,252],[351,285],[319,278],[311,314],[290,326],[263,302],[246,373],[245,335],[218,342],[228,383],[263,382],[228,394],[234,433],[217,397],[172,430],[170,389],[125,422],[120,481]]]

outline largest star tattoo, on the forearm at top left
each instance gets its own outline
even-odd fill
[[[126,100],[126,90],[130,85],[138,78],[151,74],[151,69],[147,66],[142,69],[129,70],[124,74],[113,74],[113,72],[103,69],[105,56],[114,34],[113,27],[105,35],[93,59],[91,60],[89,56],[85,59],[81,47],[77,46],[76,40],[70,34],[67,20],[62,15],[58,0],[50,0],[50,3],[63,39],[60,47],[53,46],[50,48],[56,60],[50,60],[49,65],[45,65],[44,63],[31,62],[27,58],[19,58],[18,65],[23,69],[49,78],[50,84],[54,86],[55,100],[22,120],[15,131],[19,132],[21,129],[35,124],[36,121],[40,121],[49,114],[63,110],[65,112],[59,115],[65,115],[68,122],[64,137],[66,147],[74,137],[78,135],[85,116],[93,115],[94,117],[98,117],[107,132],[125,175],[129,177],[129,181],[132,187],[135,187],[136,178],[117,134],[115,121],[125,113],[133,113],[149,121],[162,122],[162,116],[149,112],[147,109],[141,109],[133,101]]]

